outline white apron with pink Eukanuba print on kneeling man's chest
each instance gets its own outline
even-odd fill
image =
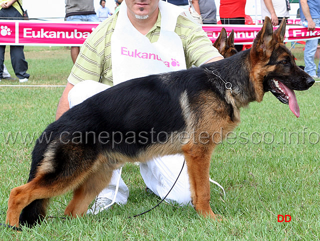
[[[131,24],[125,1],[121,3],[111,36],[114,85],[132,78],[186,68],[182,42],[174,32],[176,18],[184,9],[160,0],[159,10],[159,39],[150,43],[149,39]]]

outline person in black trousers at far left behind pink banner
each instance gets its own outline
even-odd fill
[[[5,20],[23,20],[22,16],[22,0],[0,0],[0,19]],[[26,73],[28,63],[25,60],[24,46],[10,45],[10,58],[12,68],[19,82],[28,81],[29,74]],[[5,45],[0,46],[0,79],[3,78],[3,61],[4,61]]]

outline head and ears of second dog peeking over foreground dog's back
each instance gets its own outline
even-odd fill
[[[229,36],[227,36],[225,28],[222,27],[219,36],[217,37],[217,39],[215,39],[212,45],[225,58],[230,57],[238,52],[234,47],[233,29],[230,32]]]

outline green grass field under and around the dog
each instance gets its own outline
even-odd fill
[[[302,48],[292,49],[299,65]],[[25,47],[25,56],[30,79],[23,84],[66,83],[72,67],[67,48]],[[13,73],[7,53],[5,65]],[[10,190],[27,180],[34,141],[54,120],[62,91],[0,86],[0,223],[5,222]],[[210,205],[224,217],[220,223],[198,216],[190,206],[168,203],[128,219],[159,199],[144,191],[138,166],[127,164],[122,171],[130,192],[126,205],[84,218],[47,217],[20,233],[0,227],[0,240],[319,240],[320,83],[295,93],[300,118],[266,93],[261,103],[242,109],[232,138],[216,148],[210,177],[224,187],[226,197],[211,184]],[[48,216],[63,216],[70,198],[68,193],[52,199]],[[278,215],[290,215],[291,221],[278,223]]]

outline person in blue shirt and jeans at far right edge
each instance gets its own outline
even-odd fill
[[[320,0],[300,0],[300,18],[307,22],[308,30],[314,30],[320,27]],[[316,74],[316,65],[314,63],[314,54],[318,45],[318,39],[305,41],[304,48],[304,71],[312,78],[320,78],[320,62]]]

